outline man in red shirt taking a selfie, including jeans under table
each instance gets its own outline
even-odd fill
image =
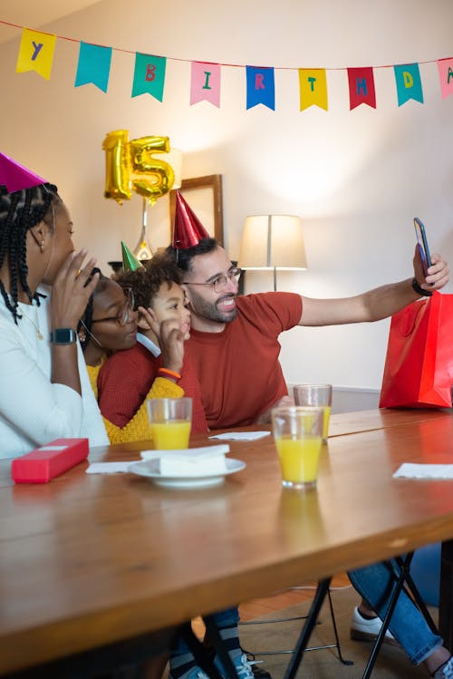
[[[188,228],[199,223],[184,206]],[[178,212],[177,212],[178,217]],[[341,325],[381,320],[404,306],[430,296],[448,283],[448,267],[439,255],[423,272],[419,250],[414,277],[381,286],[358,296],[313,299],[290,293],[238,296],[240,270],[214,238],[185,244],[182,224],[175,223],[173,252],[183,271],[181,286],[191,312],[187,352],[198,373],[201,398],[211,429],[265,422],[270,410],[287,398],[278,361],[278,335],[295,325]],[[202,226],[201,226],[202,229]],[[379,623],[391,591],[389,563],[364,567],[350,574],[361,593],[361,626]],[[391,633],[391,634],[390,634]],[[453,659],[434,635],[410,598],[402,593],[390,621],[390,639],[397,637],[413,664],[424,663],[435,679],[453,676]],[[393,640],[394,641],[394,640]]]

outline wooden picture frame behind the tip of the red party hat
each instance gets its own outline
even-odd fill
[[[188,201],[208,234],[224,244],[224,217],[222,199],[222,175],[209,174],[206,177],[183,179],[179,192]],[[169,192],[170,224],[175,223],[176,191]],[[173,226],[172,226],[173,228]]]

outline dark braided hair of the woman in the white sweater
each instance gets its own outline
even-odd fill
[[[0,269],[8,262],[10,290],[6,291],[0,279],[0,292],[5,300],[6,308],[11,312],[17,324],[19,293],[24,292],[30,302],[39,306],[39,294],[32,293],[28,285],[28,266],[26,260],[26,235],[44,221],[53,230],[53,205],[61,202],[56,186],[40,184],[32,189],[23,189],[8,193],[5,186],[0,186]]]

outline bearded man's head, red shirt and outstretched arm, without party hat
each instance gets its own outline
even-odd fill
[[[191,313],[187,352],[195,364],[211,429],[265,421],[287,393],[278,335],[295,325],[377,321],[448,282],[448,267],[432,256],[429,275],[416,251],[414,278],[342,299],[270,292],[238,296],[239,269],[214,238],[178,252]]]

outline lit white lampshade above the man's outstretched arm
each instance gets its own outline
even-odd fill
[[[302,219],[293,215],[246,217],[237,266],[306,269]]]

